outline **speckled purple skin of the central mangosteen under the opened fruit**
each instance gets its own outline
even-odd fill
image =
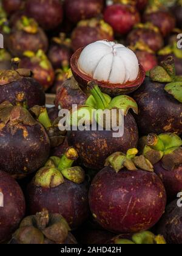
[[[83,132],[72,131],[68,133],[69,145],[73,146],[79,154],[81,163],[90,169],[102,169],[106,158],[116,151],[126,153],[138,144],[138,128],[133,116],[128,113],[124,118],[124,135],[113,137],[113,131],[96,130]]]

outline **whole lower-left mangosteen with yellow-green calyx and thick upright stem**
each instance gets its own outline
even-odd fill
[[[72,167],[78,158],[74,148],[59,157],[51,157],[41,168],[27,189],[31,214],[47,208],[66,218],[72,229],[77,228],[89,214],[88,184],[81,167]]]

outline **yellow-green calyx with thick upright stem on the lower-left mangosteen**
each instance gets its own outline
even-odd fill
[[[85,180],[84,170],[79,166],[72,167],[77,158],[78,153],[73,147],[68,148],[61,158],[50,157],[45,166],[37,172],[35,185],[54,188],[64,183],[64,178],[76,184],[83,183]]]

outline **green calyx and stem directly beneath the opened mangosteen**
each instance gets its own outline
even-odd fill
[[[138,105],[130,96],[120,95],[112,99],[109,95],[102,93],[98,85],[94,82],[89,82],[88,87],[91,95],[87,99],[86,104],[76,109],[76,111],[73,111],[72,115],[67,120],[67,124],[72,126],[86,124],[90,126],[93,121],[101,124],[100,120],[105,120],[104,118],[106,118],[107,114],[109,114],[110,119],[112,119],[113,109],[118,110],[116,113],[117,120],[118,115],[121,115],[119,110],[123,111],[124,116],[127,115],[130,108],[132,108],[133,112],[138,114]],[[101,125],[104,125],[103,122]]]

